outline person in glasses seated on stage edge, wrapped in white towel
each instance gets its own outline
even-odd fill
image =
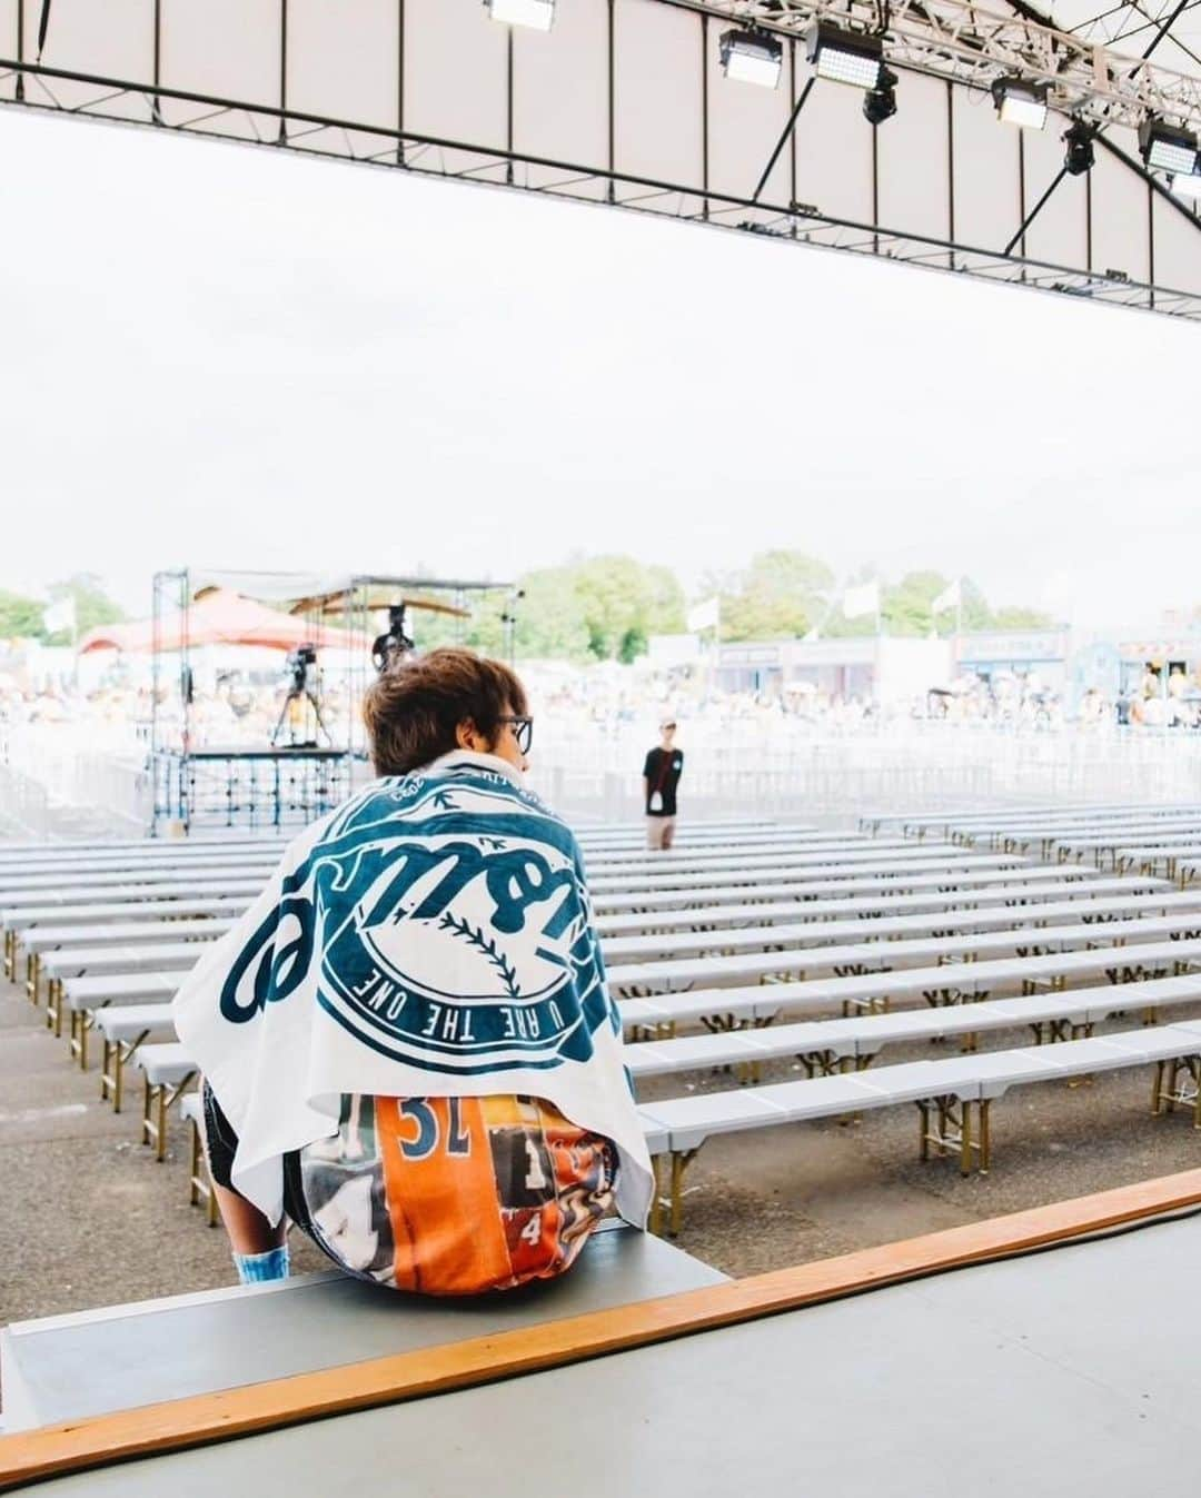
[[[580,849],[524,786],[503,665],[398,661],[364,719],[380,779],[175,998],[240,1278],[288,1273],[289,1219],[400,1290],[551,1278],[651,1192]]]

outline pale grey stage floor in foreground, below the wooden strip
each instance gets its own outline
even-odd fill
[[[409,1405],[45,1498],[1131,1495],[1192,1483],[1201,1218]]]

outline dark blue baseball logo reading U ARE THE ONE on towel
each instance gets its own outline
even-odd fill
[[[587,1061],[609,1022],[571,839],[478,779],[403,780],[334,824],[231,968],[222,1014],[250,1020],[313,977],[347,1031],[434,1071]]]

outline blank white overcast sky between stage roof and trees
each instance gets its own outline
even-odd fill
[[[0,109],[0,586],[764,547],[1201,601],[1201,327]]]

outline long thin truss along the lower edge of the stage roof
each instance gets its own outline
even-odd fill
[[[762,198],[714,192],[695,183],[656,180],[463,139],[445,139],[412,130],[383,130],[355,120],[273,108],[262,102],[147,87],[118,78],[0,58],[0,87],[15,82],[21,82],[22,87],[13,90],[15,99],[4,100],[9,108],[70,114],[109,124],[132,123],[175,135],[213,136],[300,154],[388,166],[419,175],[511,186],[551,198],[741,229],[777,244],[873,256],[925,270],[954,271],[976,280],[1060,292],[1105,306],[1134,307],[1201,322],[1201,292],[1131,280],[1116,271],[1090,273],[954,240],[907,234],[885,225],[830,217],[800,204],[773,204]],[[87,84],[97,93],[87,103],[64,105],[55,97],[55,85],[61,84]],[[195,112],[165,124],[160,106],[166,102],[186,105]]]

